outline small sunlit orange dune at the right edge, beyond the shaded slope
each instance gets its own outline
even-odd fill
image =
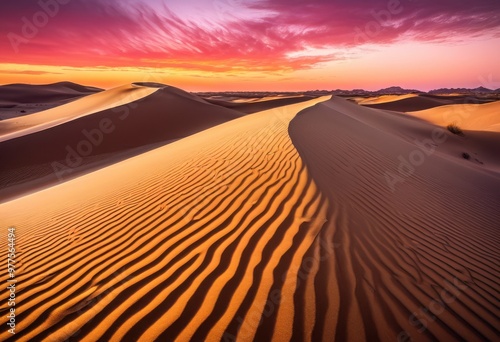
[[[462,129],[500,132],[500,101],[485,104],[455,104],[409,114],[439,126],[455,123]]]

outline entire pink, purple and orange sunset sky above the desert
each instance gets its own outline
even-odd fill
[[[17,0],[0,84],[500,88],[500,0]]]

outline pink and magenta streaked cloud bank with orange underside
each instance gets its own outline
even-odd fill
[[[46,16],[46,23],[38,14],[41,27],[26,24],[43,12],[37,1],[2,4],[7,15],[0,24],[0,62],[213,72],[297,70],[342,58],[338,54],[290,57],[305,48],[500,35],[498,0],[248,1],[246,8],[260,16],[210,12],[213,18],[204,17],[203,22],[183,19],[158,2],[44,1],[61,4],[57,3],[57,14]],[[23,34],[23,27],[32,37]]]

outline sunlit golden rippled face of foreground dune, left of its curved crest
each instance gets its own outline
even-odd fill
[[[327,202],[287,129],[323,100],[1,204],[20,249],[16,340],[310,339],[317,267],[300,265],[320,246]]]

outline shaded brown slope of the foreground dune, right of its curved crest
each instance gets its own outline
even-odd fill
[[[316,305],[337,309],[330,340],[498,338],[500,174],[453,154],[461,142],[445,130],[427,155],[416,141],[435,129],[339,98],[291,122],[329,198],[322,238],[339,244],[318,270],[339,296],[316,282]]]

